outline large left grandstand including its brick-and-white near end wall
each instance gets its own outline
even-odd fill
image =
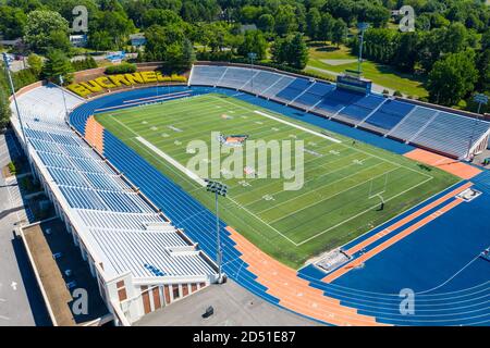
[[[17,102],[24,151],[117,324],[216,281],[213,262],[66,124],[64,104],[73,110],[83,99],[48,84]],[[22,141],[19,119],[13,125]]]

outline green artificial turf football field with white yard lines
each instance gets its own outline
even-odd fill
[[[219,178],[229,187],[228,197],[221,199],[220,217],[294,268],[458,181],[402,156],[218,94],[101,113],[97,121],[211,211],[213,196],[185,172],[196,157],[187,149],[191,141],[201,140],[210,148],[212,132],[247,135],[244,149],[252,140],[303,140],[304,185],[299,190],[284,190],[284,182],[291,178],[257,177],[270,174],[277,164],[270,159],[262,166],[248,167],[248,176]],[[228,149],[233,153],[242,148]],[[222,165],[230,153],[222,153]],[[210,158],[199,164],[217,163]]]

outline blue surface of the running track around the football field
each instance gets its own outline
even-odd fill
[[[119,107],[127,100],[155,97],[157,92],[158,96],[162,96],[180,91],[189,91],[192,95],[221,92],[235,96],[258,107],[395,153],[403,154],[413,150],[411,146],[375,134],[222,88],[160,87],[158,90],[146,88],[109,95],[77,108],[71,114],[71,123],[84,134],[86,120],[97,109]],[[103,154],[136,186],[140,187],[142,191],[164,211],[175,226],[184,228],[187,236],[198,241],[200,248],[216,259],[216,217],[211,211],[107,130],[105,130]],[[487,172],[475,183],[478,188],[490,194],[490,175]],[[420,207],[441,195],[443,194],[429,199]],[[309,281],[313,287],[323,290],[327,296],[340,299],[343,304],[357,308],[363,314],[376,316],[379,322],[399,325],[488,325],[490,323],[490,262],[476,259],[451,279],[458,270],[490,245],[488,222],[486,219],[477,217],[488,215],[488,207],[490,207],[490,197],[487,195],[471,203],[460,204],[443,217],[437,219],[368,260],[364,269],[352,271],[332,284],[322,283],[320,279],[324,274],[311,265],[301,270],[298,276]],[[403,219],[415,209],[387,224]],[[240,259],[241,253],[234,248],[235,244],[229,237],[229,232],[224,229],[225,226],[226,224],[221,222],[224,272],[252,293],[279,306],[279,299],[267,294],[267,288],[256,281],[256,275],[247,271],[248,265]],[[380,226],[357,238],[345,248],[368,238],[383,227],[385,226]],[[400,314],[401,299],[397,296],[400,289],[405,287],[416,293],[436,289],[416,295],[416,313],[407,316]]]

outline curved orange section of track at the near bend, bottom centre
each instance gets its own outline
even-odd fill
[[[256,282],[268,288],[267,294],[278,298],[279,304],[299,314],[339,326],[384,325],[376,319],[363,315],[356,309],[345,307],[340,300],[324,296],[323,291],[309,286],[297,276],[297,272],[275,261],[232,227],[226,227],[230,238],[236,243],[241,259],[247,270],[257,276]]]

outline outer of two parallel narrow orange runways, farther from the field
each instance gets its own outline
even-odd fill
[[[434,213],[430,214],[429,216],[427,216],[427,217],[420,220],[419,222],[413,224],[412,226],[405,228],[401,233],[396,234],[395,236],[393,236],[392,238],[388,239],[387,241],[380,244],[379,246],[372,248],[371,250],[369,250],[366,253],[362,254],[357,259],[354,259],[351,262],[347,262],[345,265],[343,265],[342,268],[338,269],[336,271],[333,271],[332,273],[327,275],[322,281],[326,282],[326,283],[333,282],[334,279],[336,279],[338,277],[344,275],[345,273],[347,273],[352,269],[355,269],[355,268],[362,265],[364,262],[366,262],[370,258],[372,258],[376,254],[380,253],[384,249],[388,249],[389,247],[391,247],[395,243],[402,240],[406,236],[413,234],[415,231],[419,229],[420,227],[427,225],[429,222],[438,219],[439,216],[441,216],[442,214],[446,213],[451,209],[457,207],[462,202],[463,202],[462,199],[456,198],[455,200],[451,201],[449,204],[442,207],[441,209],[439,209]]]

